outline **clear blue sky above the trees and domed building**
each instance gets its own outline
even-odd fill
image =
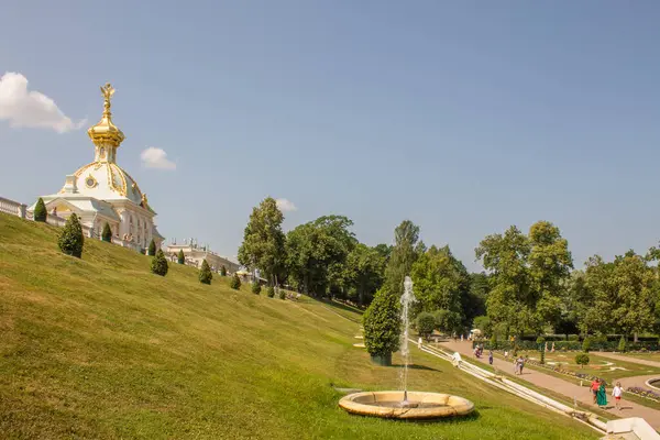
[[[486,234],[541,219],[578,266],[645,252],[660,238],[658,22],[651,0],[6,1],[0,75],[88,121],[1,120],[0,195],[31,202],[91,161],[111,81],[118,162],[167,238],[235,255],[271,195],[297,207],[286,229],[344,215],[367,244],[409,218],[472,270]],[[147,147],[176,169],[141,164]]]

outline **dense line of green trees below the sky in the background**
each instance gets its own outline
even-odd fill
[[[377,295],[399,297],[409,275],[417,297],[413,318],[424,314],[428,328],[432,316],[436,329],[447,333],[473,326],[504,338],[660,330],[660,249],[646,255],[629,251],[612,262],[595,255],[575,271],[560,229],[539,221],[528,233],[512,226],[485,237],[475,249],[485,271],[470,273],[448,245],[427,248],[409,220],[395,229],[393,245],[376,246],[361,243],[343,216],[323,216],[288,233],[283,220],[275,200],[264,199],[250,216],[239,251],[241,264],[258,268],[270,285],[286,283],[311,296],[369,306]]]

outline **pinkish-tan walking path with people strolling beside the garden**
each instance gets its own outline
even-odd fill
[[[440,342],[440,345],[443,345],[452,353],[458,351],[465,359],[479,361],[484,364],[488,363],[487,352],[484,352],[484,355],[479,360],[474,358],[474,353],[472,351],[472,342],[470,341]],[[513,373],[514,371],[513,361],[508,362],[497,358],[493,360],[493,366],[505,373]],[[570,400],[573,400],[573,398],[575,398],[581,404],[580,406],[583,409],[595,407],[595,405],[593,405],[593,397],[588,386],[574,385],[559,377],[554,377],[531,369],[524,369],[522,375],[516,377],[519,377],[522,381],[527,381],[530,384],[534,384],[541,388],[552,389],[556,393],[564,395]],[[624,381],[622,380],[622,385],[623,382]],[[622,410],[617,410],[614,408],[614,397],[612,397],[612,388],[609,387],[607,389],[607,413],[610,413],[617,417],[642,417],[656,430],[660,429],[660,410],[648,408],[646,406],[641,406],[639,404],[626,400],[626,393],[624,393],[624,400],[622,407],[624,408]]]

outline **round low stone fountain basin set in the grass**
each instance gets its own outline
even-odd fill
[[[404,392],[365,392],[342,397],[339,406],[351,414],[407,420],[466,416],[474,410],[472,402],[449,394],[408,392],[408,402],[417,407],[400,405],[403,400]]]

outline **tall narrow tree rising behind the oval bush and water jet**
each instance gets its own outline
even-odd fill
[[[397,297],[404,293],[404,279],[410,275],[413,264],[425,250],[419,241],[419,227],[404,220],[394,230],[394,248],[385,268],[385,288]]]

